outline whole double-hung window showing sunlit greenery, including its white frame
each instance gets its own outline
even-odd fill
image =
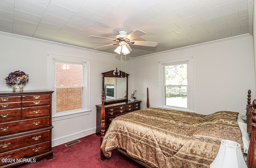
[[[193,58],[159,63],[161,107],[194,112]]]

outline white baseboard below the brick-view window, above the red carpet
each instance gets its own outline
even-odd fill
[[[52,139],[52,147],[58,146],[58,145],[61,145],[61,144],[65,144],[67,142],[82,138],[84,136],[95,134],[95,132],[96,132],[96,128],[92,128],[92,129],[89,129],[89,130],[83,130],[83,131],[80,131],[80,132],[75,132],[73,134],[69,134],[69,135],[66,135],[66,136],[62,136],[62,137],[59,137],[59,138]]]

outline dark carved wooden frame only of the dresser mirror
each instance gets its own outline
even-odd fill
[[[102,91],[104,91],[104,104],[105,105],[128,101],[128,95],[127,95],[127,91],[128,91],[128,76],[129,76],[128,73],[124,73],[122,71],[117,71],[117,68],[116,68],[116,70],[102,73]],[[113,101],[106,101],[105,81],[104,81],[105,77],[126,78],[126,96],[125,96],[124,99],[115,99]]]

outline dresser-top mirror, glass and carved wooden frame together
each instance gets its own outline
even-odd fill
[[[104,102],[115,103],[127,101],[128,75],[122,71],[108,71],[102,73],[102,90]]]

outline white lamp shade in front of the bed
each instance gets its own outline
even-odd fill
[[[222,140],[210,168],[247,168],[240,144],[232,140]]]

